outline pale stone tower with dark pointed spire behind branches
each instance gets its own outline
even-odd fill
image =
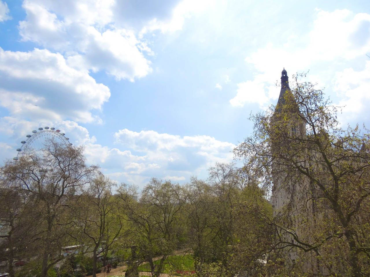
[[[282,216],[284,225],[295,232],[297,237],[308,241],[306,234],[312,226],[309,196],[309,181],[306,176],[295,171],[291,166],[290,158],[306,164],[307,152],[302,148],[302,138],[306,138],[306,120],[300,113],[292,90],[289,88],[288,76],[285,69],[281,73],[281,89],[275,112],[271,118],[271,150],[273,155],[272,177],[273,188],[271,204],[273,216]],[[296,151],[295,151],[296,150]],[[303,212],[305,216],[303,216]],[[292,234],[280,230],[279,235],[283,237],[285,246],[295,243]],[[284,245],[280,245],[284,246]],[[298,257],[294,247],[287,247],[285,262],[292,264]],[[312,267],[309,262],[305,265],[308,269]]]

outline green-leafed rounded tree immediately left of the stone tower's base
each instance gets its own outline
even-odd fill
[[[234,243],[228,259],[230,275],[248,272],[250,276],[265,276],[265,259],[273,242],[274,230],[270,224],[272,206],[264,197],[263,190],[255,184],[247,184],[233,208],[233,217]]]

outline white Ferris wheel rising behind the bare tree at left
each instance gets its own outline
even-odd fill
[[[58,141],[61,144],[65,144],[66,147],[72,145],[72,143],[68,141],[69,138],[65,137],[65,134],[61,133],[59,129],[55,130],[54,127],[40,127],[38,130],[33,130],[32,134],[28,134],[26,137],[26,140],[21,141],[21,148],[17,148],[18,154],[13,160],[18,160],[25,155],[31,154],[33,151],[43,149],[48,140]]]

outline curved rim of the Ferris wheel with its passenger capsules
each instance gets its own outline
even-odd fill
[[[17,156],[13,158],[13,160],[18,160],[19,158],[23,157],[26,154],[27,147],[30,147],[33,141],[36,141],[37,138],[40,137],[46,137],[46,136],[53,136],[58,137],[66,147],[69,147],[72,145],[72,143],[69,142],[69,138],[65,137],[64,133],[61,133],[59,129],[55,129],[54,127],[40,127],[38,130],[33,130],[32,135],[27,134],[27,139],[24,141],[21,141],[22,146],[20,148],[17,148]]]

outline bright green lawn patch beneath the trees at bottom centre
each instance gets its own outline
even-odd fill
[[[159,264],[159,260],[154,261],[154,264]],[[161,273],[170,273],[171,271],[179,272],[179,271],[193,271],[194,270],[194,259],[193,257],[188,255],[173,255],[168,256],[167,259],[164,261],[163,269]],[[138,267],[138,271],[146,271],[150,272],[150,265],[149,263],[142,264]]]

